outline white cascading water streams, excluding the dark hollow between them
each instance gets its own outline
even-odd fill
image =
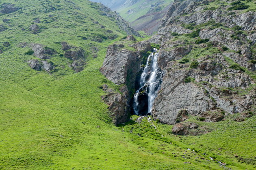
[[[139,89],[136,91],[134,95],[134,104],[133,108],[136,115],[140,115],[139,113],[139,95],[141,91],[144,91],[145,89],[148,94],[148,110],[147,113],[151,113],[153,102],[156,98],[156,92],[158,91],[159,87],[159,77],[157,77],[157,74],[159,72],[158,70],[158,53],[157,49],[154,49],[154,52],[151,53],[148,56],[147,64],[145,68],[143,69],[143,72],[140,77],[139,81]],[[145,112],[145,110],[144,110]]]

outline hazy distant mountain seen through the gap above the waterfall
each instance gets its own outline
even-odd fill
[[[171,6],[173,0],[92,0],[100,2],[131,22],[137,31],[153,34],[161,25],[161,20]]]

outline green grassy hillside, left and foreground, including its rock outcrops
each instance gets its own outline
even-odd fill
[[[171,134],[172,125],[150,118],[136,123],[133,116],[126,125],[113,125],[99,87],[117,86],[99,68],[106,48],[126,32],[97,4],[0,3],[1,170],[254,168],[255,141],[244,141],[247,134],[255,136],[255,116],[240,124],[210,123],[212,132],[187,137]],[[222,125],[225,130],[218,130]],[[240,142],[236,134],[243,137],[240,147],[232,145]]]

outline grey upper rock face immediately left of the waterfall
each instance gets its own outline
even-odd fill
[[[117,85],[135,85],[135,79],[140,71],[140,61],[143,51],[151,51],[151,46],[147,42],[135,44],[138,51],[123,49],[123,45],[111,45],[108,47],[103,66],[100,68],[109,80]]]

